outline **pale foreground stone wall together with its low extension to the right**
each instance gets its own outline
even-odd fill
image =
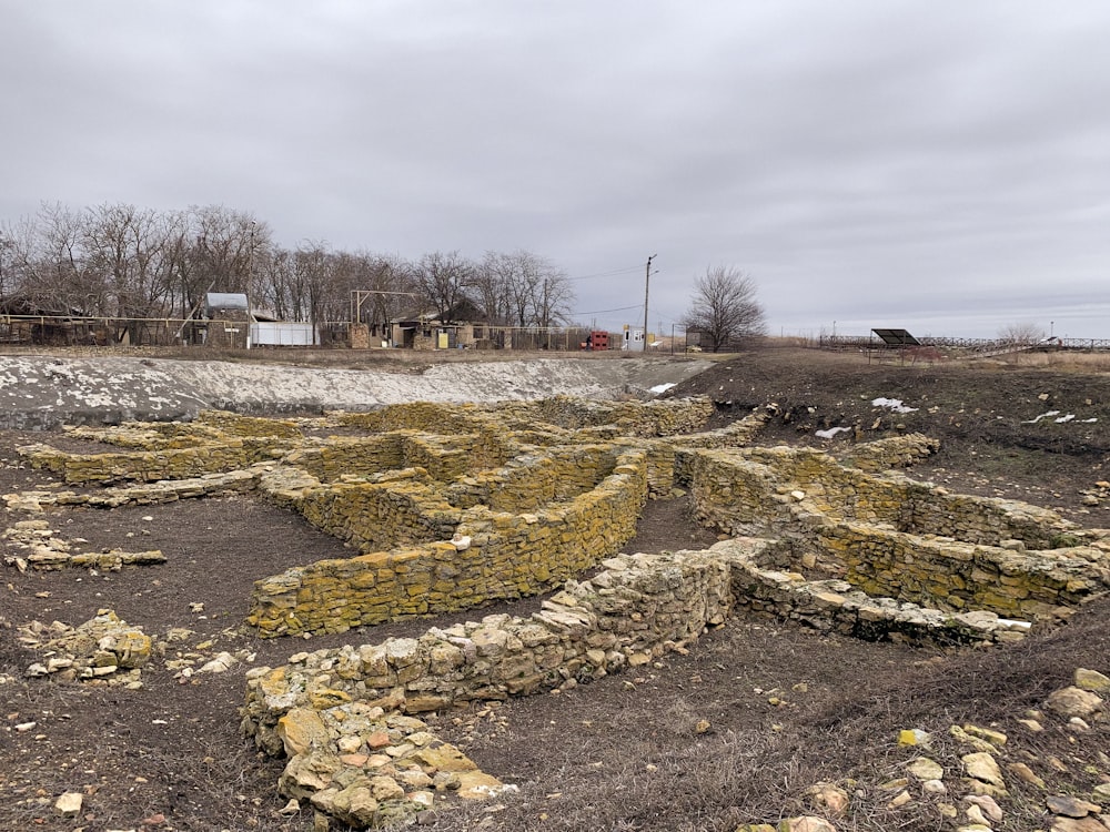
[[[747,538],[704,551],[620,555],[589,580],[567,581],[527,618],[486,616],[418,638],[296,653],[284,667],[248,673],[243,728],[266,753],[290,758],[281,792],[321,805],[327,801],[317,795],[364,774],[375,732],[360,714],[382,719],[576,687],[684,650],[737,607],[912,643],[1008,641],[1025,632],[990,613],[949,616],[869,598],[845,581],[763,568],[781,546]],[[432,739],[425,737],[408,748]],[[342,806],[327,811],[352,822]]]

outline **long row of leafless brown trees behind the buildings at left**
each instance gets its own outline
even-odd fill
[[[0,297],[90,317],[186,318],[210,292],[313,324],[351,321],[354,310],[371,325],[417,313],[451,323],[466,311],[491,325],[553,327],[569,323],[574,303],[566,274],[533,252],[407,260],[312,240],[289,248],[264,221],[219,205],[43,204],[0,226]]]

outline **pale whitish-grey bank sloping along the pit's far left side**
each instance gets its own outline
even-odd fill
[[[364,368],[140,357],[0,356],[0,427],[190,419],[199,410],[319,413],[401,402],[492,402],[558,394],[650,395],[710,365],[666,357],[452,361]]]

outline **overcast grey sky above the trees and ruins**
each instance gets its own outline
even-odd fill
[[[224,205],[278,242],[529,250],[669,334],[1110,337],[1110,2],[0,0],[0,223]],[[626,308],[627,307],[627,308]]]

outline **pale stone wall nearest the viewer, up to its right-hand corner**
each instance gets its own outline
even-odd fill
[[[418,639],[320,650],[252,671],[252,733],[279,751],[278,720],[324,691],[418,713],[585,681],[644,664],[724,622],[731,608],[729,569],[704,552],[623,555],[604,566],[591,581],[569,581],[529,618],[487,616]]]

